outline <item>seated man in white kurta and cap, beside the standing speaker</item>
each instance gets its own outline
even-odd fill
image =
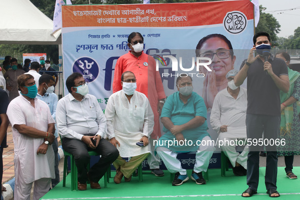
[[[238,72],[231,70],[227,73],[228,86],[216,95],[210,121],[212,128],[219,134],[220,148],[229,158],[235,175],[243,176],[246,175],[245,169],[247,169],[248,145],[245,146],[242,153],[239,153],[234,141],[247,138],[247,90],[243,87],[232,86],[233,79]],[[238,144],[243,144],[243,142],[238,142]]]

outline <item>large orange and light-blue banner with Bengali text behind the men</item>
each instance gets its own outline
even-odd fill
[[[195,57],[199,40],[210,34],[222,34],[232,44],[236,55],[234,67],[239,69],[253,47],[253,17],[253,4],[248,0],[62,6],[64,81],[73,72],[82,73],[89,82],[89,93],[105,109],[112,94],[116,61],[128,53],[127,38],[131,32],[142,34],[144,52],[154,58],[162,55],[177,58],[181,50]],[[238,50],[244,50],[243,55],[239,56]],[[161,74],[172,69],[170,60],[165,64],[163,69],[159,66]],[[194,68],[191,73],[199,72]],[[174,93],[175,80],[174,76],[162,77],[167,96]],[[193,77],[194,91],[201,96],[203,82],[203,77]],[[64,95],[68,93],[64,88]]]

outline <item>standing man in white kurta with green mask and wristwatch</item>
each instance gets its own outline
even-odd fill
[[[55,121],[45,102],[26,96],[29,86],[36,87],[34,77],[21,75],[18,83],[19,79],[27,79],[18,86],[23,95],[14,98],[7,109],[15,146],[14,198],[30,199],[34,182],[34,199],[39,199],[49,191],[51,178],[55,178],[54,152],[48,148],[54,140]]]

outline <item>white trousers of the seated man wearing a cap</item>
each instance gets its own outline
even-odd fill
[[[231,165],[233,167],[235,167],[236,162],[238,162],[247,170],[247,157],[248,157],[248,152],[249,152],[248,145],[245,146],[242,153],[239,153],[236,150],[236,146],[237,146],[236,143],[233,142],[233,141],[236,141],[236,138],[226,138],[226,134],[221,132],[219,134],[218,140],[224,141],[223,145],[221,145],[220,148],[224,152],[224,154],[228,157],[228,159],[230,160]],[[230,142],[230,141],[232,141],[232,142]],[[245,141],[245,138],[237,139],[237,141]],[[240,143],[242,144],[242,142],[240,142]]]

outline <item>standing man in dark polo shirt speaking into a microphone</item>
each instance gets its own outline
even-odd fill
[[[248,59],[241,66],[235,76],[235,85],[240,86],[247,79],[247,140],[262,140],[264,144],[278,139],[280,130],[280,90],[289,89],[288,71],[285,62],[273,57],[268,52],[271,49],[270,35],[266,32],[257,32],[253,37],[254,46],[250,50]],[[254,52],[257,55],[254,57]],[[267,73],[266,73],[267,72]],[[247,160],[247,185],[243,197],[257,193],[259,178],[259,145],[249,145]],[[266,145],[265,186],[269,196],[280,196],[276,186],[277,181],[277,149],[276,145]]]

